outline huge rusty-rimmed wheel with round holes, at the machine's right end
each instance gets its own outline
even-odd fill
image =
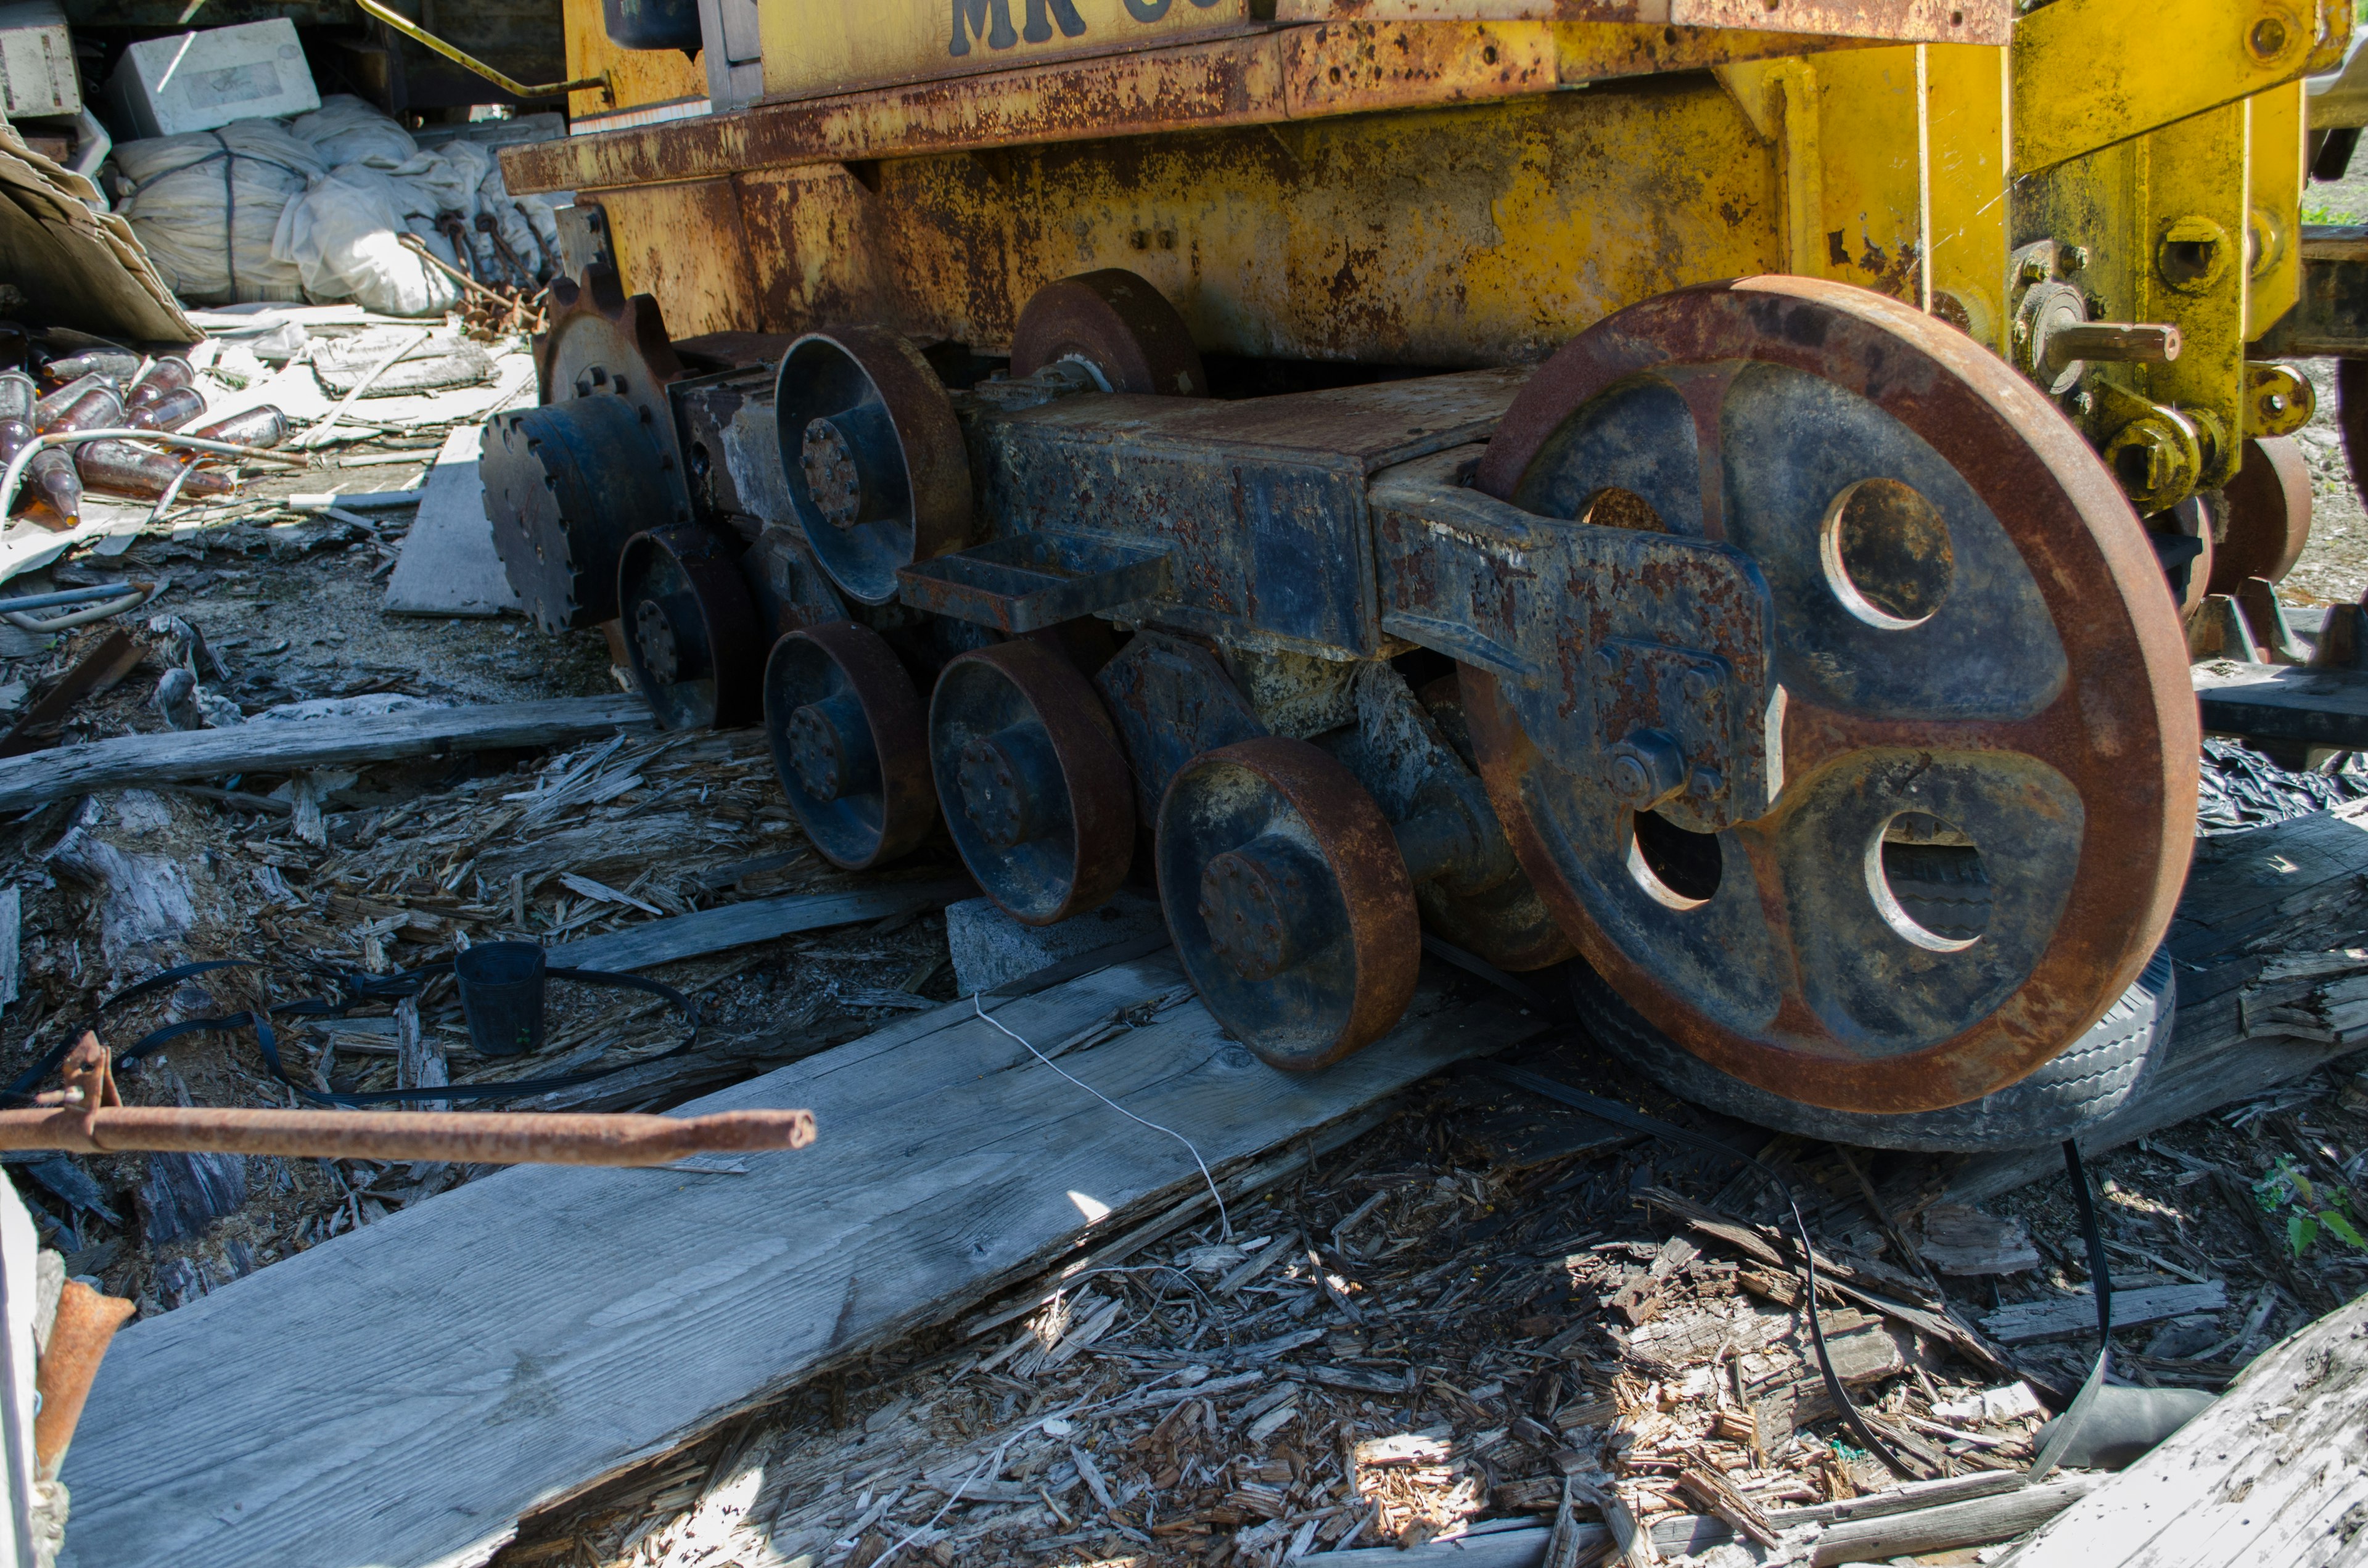
[[[1774,602],[1781,791],[1717,834],[1584,786],[1463,670],[1523,865],[1648,1023],[1785,1099],[1935,1111],[2138,978],[2195,831],[2186,644],[2112,476],[1996,358],[1845,284],[1684,289],[1565,346],[1478,483],[1726,542]]]

